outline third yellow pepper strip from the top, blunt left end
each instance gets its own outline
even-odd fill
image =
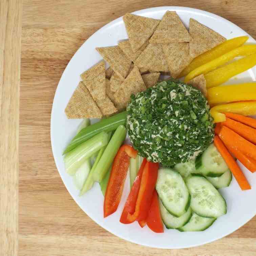
[[[243,71],[246,71],[256,65],[256,54],[251,54],[240,60],[234,61],[226,66],[217,68],[205,74],[206,87],[211,88],[225,83],[231,77],[234,77]]]

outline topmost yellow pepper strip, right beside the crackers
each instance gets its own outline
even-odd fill
[[[201,65],[204,65],[205,63],[212,61],[223,54],[226,54],[226,52],[229,52],[243,45],[248,39],[248,36],[235,37],[217,45],[209,51],[206,51],[205,53],[193,59],[190,64],[185,69],[183,69],[177,78],[185,77],[188,73],[197,67],[200,67]]]

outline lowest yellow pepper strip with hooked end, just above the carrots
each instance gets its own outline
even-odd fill
[[[211,115],[214,119],[214,123],[225,122],[225,112],[230,112],[240,115],[256,115],[256,101],[249,102],[237,102],[217,105],[211,108]]]

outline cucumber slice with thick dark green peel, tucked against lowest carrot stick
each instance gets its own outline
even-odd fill
[[[208,177],[219,177],[229,169],[214,144],[211,144],[204,153],[196,157],[195,168]]]

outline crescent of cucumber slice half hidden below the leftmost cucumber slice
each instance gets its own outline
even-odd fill
[[[174,217],[166,210],[161,200],[159,200],[159,206],[163,222],[167,229],[177,229],[183,227],[184,225],[186,225],[186,223],[188,223],[192,216],[192,211],[190,207],[188,211],[182,216]]]

